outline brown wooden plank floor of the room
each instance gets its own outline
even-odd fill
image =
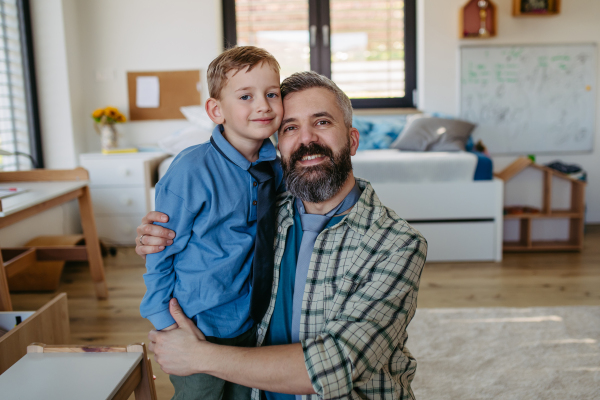
[[[110,298],[96,300],[87,264],[67,264],[66,292],[73,344],[146,342],[151,324],[140,317],[143,261],[132,248],[105,258]],[[16,310],[35,310],[54,293],[14,293]],[[600,225],[586,227],[582,253],[505,254],[501,263],[427,264],[419,307],[541,307],[600,305]],[[168,377],[154,364],[159,399],[169,399]]]

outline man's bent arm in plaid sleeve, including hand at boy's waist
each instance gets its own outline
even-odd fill
[[[259,348],[212,344],[173,299],[170,311],[179,328],[150,332],[150,351],[169,374],[206,373],[261,390],[317,393],[326,399],[349,396],[399,345],[416,308],[426,252],[424,239],[415,237],[379,262],[368,282],[347,281],[350,286],[339,287],[343,296],[359,286],[316,338]]]

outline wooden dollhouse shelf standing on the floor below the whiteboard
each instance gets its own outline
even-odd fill
[[[505,182],[505,191],[510,187],[508,181],[515,178],[527,168],[541,171],[543,177],[541,208],[505,207],[505,224],[518,220],[519,240],[505,241],[503,249],[507,252],[513,251],[581,251],[583,248],[583,225],[585,218],[585,186],[586,183],[558,172],[552,168],[535,164],[529,158],[518,158],[496,176]],[[566,181],[570,184],[570,204],[567,208],[553,206],[553,182],[556,180]],[[564,186],[564,185],[563,185]],[[561,186],[562,187],[562,186]],[[568,188],[568,186],[567,186]],[[526,189],[527,190],[527,189]],[[505,193],[507,195],[508,193]],[[565,232],[566,240],[532,240],[532,224],[544,219],[567,220],[568,232]]]

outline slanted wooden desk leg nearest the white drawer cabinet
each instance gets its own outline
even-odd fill
[[[104,263],[100,251],[100,242],[98,241],[98,231],[96,230],[96,220],[94,219],[89,187],[86,186],[83,188],[83,194],[79,196],[78,200],[83,236],[85,237],[90,273],[92,274],[92,280],[96,288],[96,296],[99,299],[106,299],[108,298],[108,288],[106,287],[106,278],[104,277]]]

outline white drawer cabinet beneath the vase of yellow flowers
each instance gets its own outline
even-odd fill
[[[79,157],[90,173],[90,192],[100,239],[112,245],[135,245],[135,228],[152,210],[162,152],[102,154]]]

